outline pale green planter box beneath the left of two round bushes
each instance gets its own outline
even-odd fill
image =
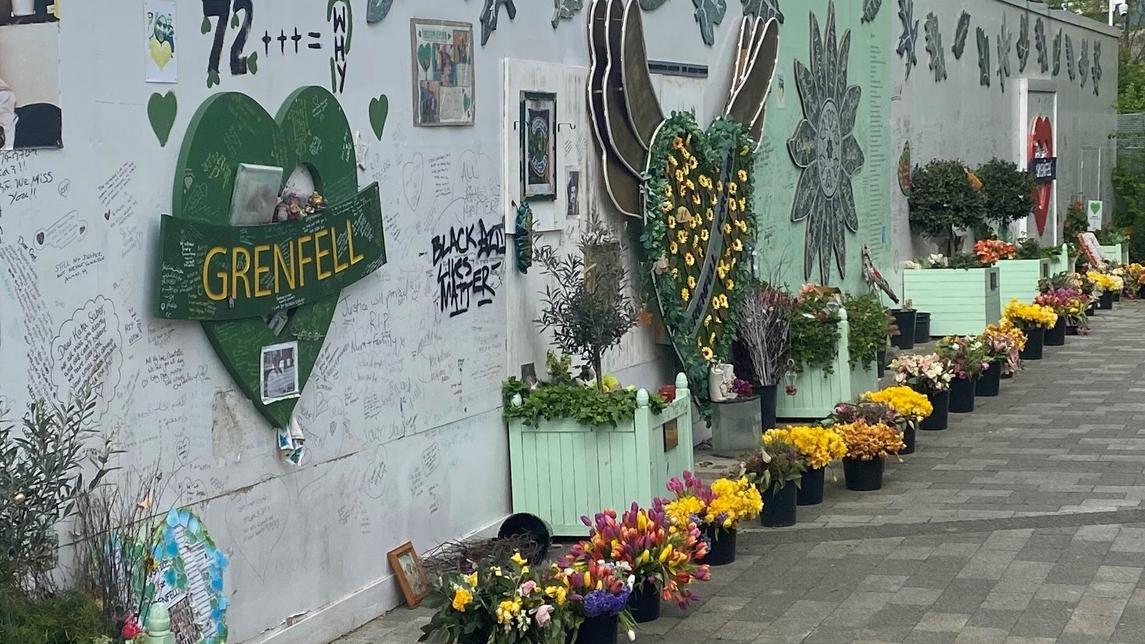
[[[1002,317],[997,267],[902,271],[902,297],[931,313],[931,335],[978,335]]]

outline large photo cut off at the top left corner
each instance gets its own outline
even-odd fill
[[[0,149],[30,148],[63,148],[60,3],[0,0]]]

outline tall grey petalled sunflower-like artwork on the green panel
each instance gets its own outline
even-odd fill
[[[901,0],[900,0],[901,6]],[[826,58],[813,64],[820,78],[802,62],[795,62],[795,78],[803,102],[804,119],[788,140],[788,152],[802,168],[791,206],[791,221],[806,222],[804,278],[810,279],[818,264],[820,284],[830,284],[831,256],[846,277],[847,232],[859,232],[859,213],[855,209],[851,177],[864,162],[863,151],[854,136],[862,88],[847,85],[851,30],[843,32],[836,49],[835,3],[828,3],[827,32],[820,38],[819,22],[811,18],[811,51],[838,51],[837,58]]]

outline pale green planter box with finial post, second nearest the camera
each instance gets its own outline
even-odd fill
[[[806,371],[795,379],[795,396],[781,388],[775,401],[775,416],[784,420],[819,420],[828,416],[836,403],[853,400],[860,393],[878,388],[878,372],[874,361],[870,368],[862,365],[851,368],[847,342],[847,312],[839,310],[839,342],[836,348],[834,372]],[[783,384],[787,384],[785,382]]]

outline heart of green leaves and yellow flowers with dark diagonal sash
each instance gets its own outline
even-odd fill
[[[705,132],[690,113],[673,114],[649,150],[642,240],[664,325],[697,390],[708,382],[708,365],[729,356],[733,311],[751,278],[756,143],[749,132],[722,117]]]

